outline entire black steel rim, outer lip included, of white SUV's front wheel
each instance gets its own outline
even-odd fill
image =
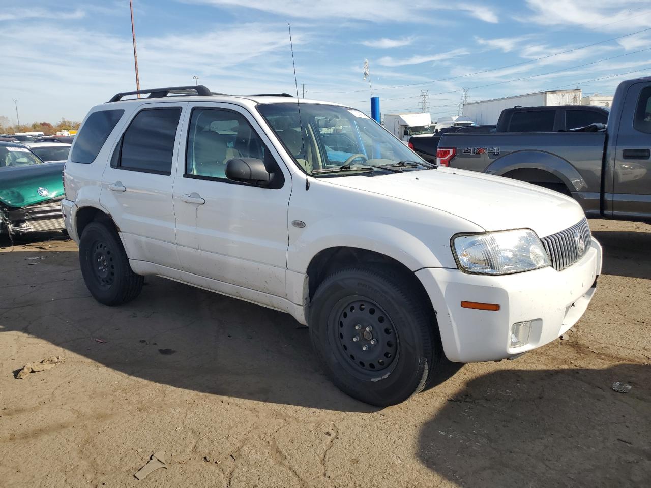
[[[376,302],[365,297],[340,300],[330,314],[329,329],[335,354],[350,372],[376,377],[395,367],[398,334]]]

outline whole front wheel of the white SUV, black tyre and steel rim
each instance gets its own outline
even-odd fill
[[[312,345],[344,393],[385,407],[420,392],[441,357],[436,320],[400,273],[344,269],[312,299]]]

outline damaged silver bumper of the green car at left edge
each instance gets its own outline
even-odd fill
[[[10,234],[62,230],[61,200],[48,200],[22,208],[3,208],[2,221]]]

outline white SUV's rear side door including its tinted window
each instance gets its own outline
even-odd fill
[[[148,103],[134,113],[104,170],[100,197],[130,259],[174,269],[179,262],[172,186],[186,105]]]

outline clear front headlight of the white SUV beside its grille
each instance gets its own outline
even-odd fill
[[[464,271],[508,275],[551,265],[533,230],[505,230],[452,238],[456,260]]]

